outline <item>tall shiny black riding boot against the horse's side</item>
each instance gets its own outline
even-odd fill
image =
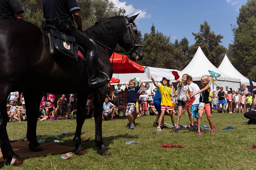
[[[87,53],[86,67],[87,67],[87,73],[88,73],[88,82],[91,88],[100,86],[108,81],[108,77],[106,78],[97,77],[97,73],[98,73],[97,53],[95,53],[94,51],[90,51],[89,53]]]

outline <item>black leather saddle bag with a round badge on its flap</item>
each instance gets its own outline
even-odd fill
[[[50,30],[48,36],[50,52],[54,57],[77,61],[78,45],[76,45],[75,37],[55,30]]]

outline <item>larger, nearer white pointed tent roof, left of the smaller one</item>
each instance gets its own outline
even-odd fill
[[[212,70],[214,72],[220,73],[221,76],[217,78],[218,80],[222,81],[233,81],[233,82],[240,82],[240,79],[233,78],[224,74],[218,68],[216,68],[204,55],[200,46],[198,47],[193,59],[190,61],[187,67],[185,67],[180,73],[180,78],[183,74],[189,74],[193,77],[193,81],[200,81],[202,75],[206,74],[209,75],[208,70]],[[174,82],[174,76],[170,77],[171,82]]]

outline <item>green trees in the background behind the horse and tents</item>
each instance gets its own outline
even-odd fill
[[[25,19],[41,28],[42,0],[19,1],[25,10]],[[125,14],[125,10],[118,8],[111,0],[78,0],[78,4],[82,9],[85,29],[103,18]],[[256,0],[248,0],[241,6],[236,24],[231,25],[234,40],[228,48],[221,45],[223,36],[211,31],[206,21],[200,25],[199,32],[192,32],[195,38],[193,45],[189,45],[186,37],[172,42],[170,36],[156,30],[155,25],[152,24],[149,33],[141,35],[139,32],[144,50],[144,58],[139,64],[181,71],[188,65],[200,46],[215,67],[219,67],[227,53],[229,60],[241,74],[256,81]]]

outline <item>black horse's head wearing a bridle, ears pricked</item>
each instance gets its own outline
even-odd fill
[[[142,60],[143,58],[143,50],[138,36],[138,30],[133,22],[138,15],[139,14],[130,18],[125,17],[127,30],[123,39],[118,42],[118,44],[124,48],[125,52],[128,53],[128,57],[133,61]]]

